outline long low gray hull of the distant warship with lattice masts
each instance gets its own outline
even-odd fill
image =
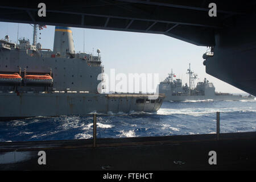
[[[240,100],[254,100],[254,97],[242,96],[170,96],[166,95],[164,101],[201,101],[201,100],[214,100],[214,101],[240,101]]]

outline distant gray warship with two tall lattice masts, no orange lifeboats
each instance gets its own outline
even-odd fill
[[[175,79],[176,75],[171,72],[168,77],[160,82],[159,93],[164,93],[164,101],[193,101],[193,100],[254,100],[254,97],[233,95],[230,93],[215,92],[213,83],[209,82],[206,78],[203,82],[197,82],[195,86],[195,80],[197,75],[189,69],[187,74],[189,75],[189,85],[182,85],[180,79]]]

